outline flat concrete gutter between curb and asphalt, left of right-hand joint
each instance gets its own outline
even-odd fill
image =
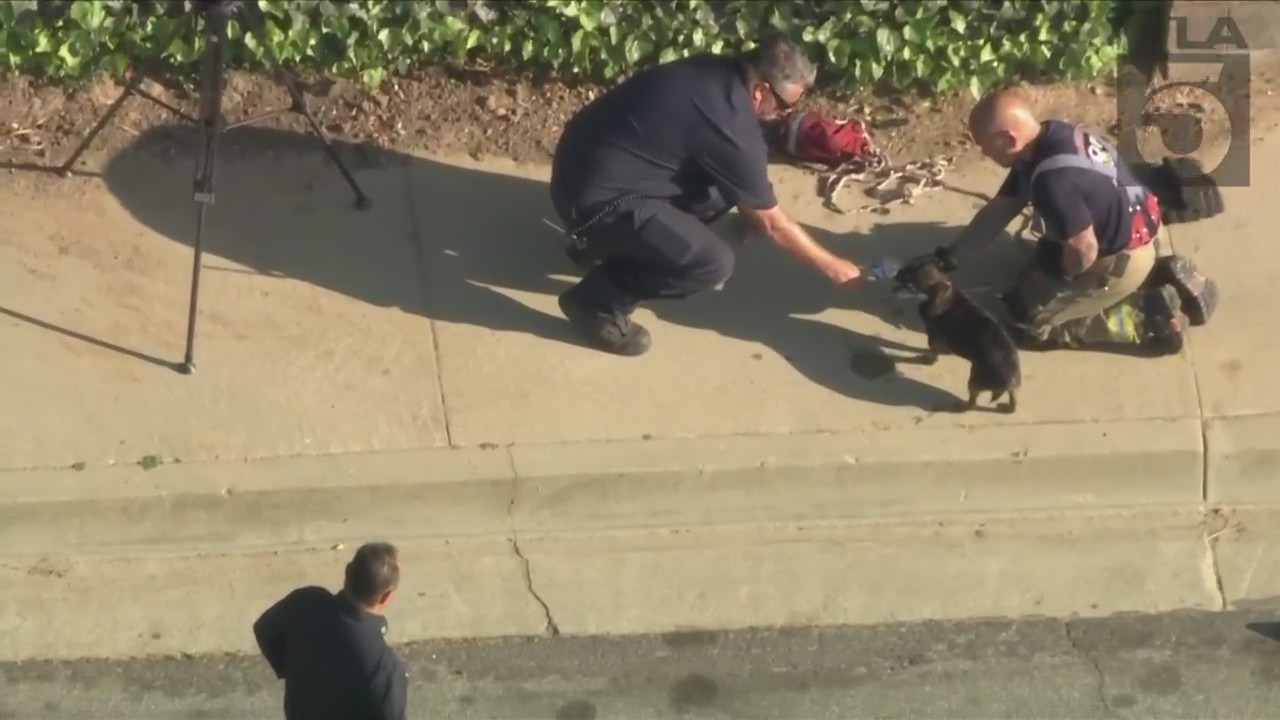
[[[398,642],[1221,607],[1202,515],[1187,509],[532,533],[518,552],[483,538],[399,547]],[[0,561],[0,660],[253,652],[257,614],[298,585],[332,587],[348,557]]]

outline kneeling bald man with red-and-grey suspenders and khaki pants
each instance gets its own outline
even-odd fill
[[[1002,296],[1021,345],[1179,352],[1189,320],[1212,314],[1217,288],[1189,259],[1157,255],[1169,242],[1160,200],[1116,149],[1070,123],[1038,120],[1018,87],[983,97],[969,131],[1010,172],[950,250],[987,245],[1032,206],[1036,260]]]

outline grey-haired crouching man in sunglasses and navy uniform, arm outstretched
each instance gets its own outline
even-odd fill
[[[631,76],[573,118],[552,160],[550,196],[586,268],[559,306],[599,348],[649,350],[631,320],[641,302],[724,283],[733,249],[709,225],[735,206],[780,247],[836,286],[859,268],[787,217],[768,176],[762,119],[813,86],[813,64],[781,36],[741,56],[695,55]]]

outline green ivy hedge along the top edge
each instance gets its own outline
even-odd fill
[[[251,0],[252,1],[252,0]],[[1137,0],[1128,0],[1133,4]],[[0,1],[0,70],[54,81],[120,76],[131,59],[188,73],[201,40],[192,0]],[[803,40],[827,90],[876,85],[980,92],[1011,78],[1080,79],[1114,67],[1126,0],[257,0],[275,54],[303,73],[378,86],[430,64],[609,81],[764,28]],[[233,67],[264,49],[238,23]]]

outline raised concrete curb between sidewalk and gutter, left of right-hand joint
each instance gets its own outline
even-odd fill
[[[0,555],[1188,507],[1203,468],[1183,419],[28,470]]]

